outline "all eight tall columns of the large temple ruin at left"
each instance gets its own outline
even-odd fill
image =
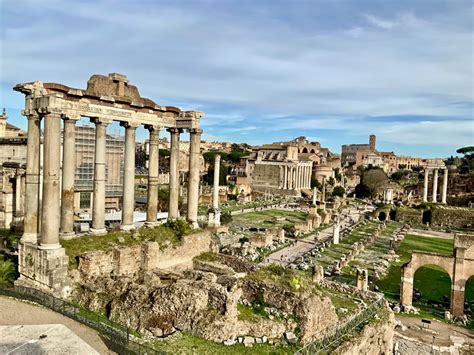
[[[75,175],[75,119],[58,113],[28,117],[28,142],[25,184],[25,218],[23,242],[37,243],[40,236],[40,248],[59,248],[59,235],[74,234],[74,175]],[[44,117],[44,152],[42,206],[40,208],[40,130]],[[64,121],[62,177],[61,154],[58,147],[61,142],[61,119]],[[105,191],[106,191],[106,138],[109,120],[91,118],[95,123],[94,186],[92,204],[92,234],[104,234],[105,229]],[[124,176],[122,196],[123,230],[134,228],[133,212],[135,206],[135,133],[139,124],[121,122],[125,127]],[[150,152],[148,170],[147,225],[155,225],[158,212],[158,174],[159,174],[159,133],[158,126],[145,126],[149,133]],[[182,129],[169,128],[171,135],[169,211],[168,217],[179,216],[179,136]],[[190,159],[188,181],[187,219],[197,226],[199,198],[199,154],[202,130],[189,129]],[[60,182],[62,188],[60,191]],[[61,198],[60,198],[61,194]],[[40,217],[41,216],[41,217]],[[40,220],[41,218],[41,220]]]

